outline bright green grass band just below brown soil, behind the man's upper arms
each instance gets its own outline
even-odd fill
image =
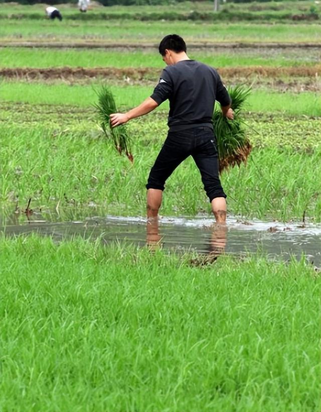
[[[156,83],[156,79],[155,79]],[[3,81],[0,83],[2,101],[20,101],[31,104],[70,104],[80,107],[91,106],[97,96],[92,85],[44,84]],[[153,87],[146,86],[112,86],[117,107],[133,107],[150,96]],[[166,110],[168,102],[159,108]],[[248,99],[248,110],[253,112],[285,113],[287,115],[320,116],[321,106],[317,93],[278,93],[267,90],[254,90]]]

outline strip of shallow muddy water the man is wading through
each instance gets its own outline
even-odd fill
[[[57,216],[48,218],[40,213],[2,215],[0,222],[0,231],[6,235],[37,232],[55,240],[75,235],[101,236],[105,243],[119,241],[138,246],[148,243],[155,248],[215,254],[263,253],[284,260],[304,255],[309,262],[321,267],[321,225],[246,222],[229,217],[226,228],[220,228],[210,217],[160,217],[158,223],[147,222],[142,217],[121,216],[61,221]]]

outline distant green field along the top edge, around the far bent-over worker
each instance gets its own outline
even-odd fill
[[[40,20],[44,17],[45,5],[22,6],[4,4],[0,19]],[[182,2],[163,6],[112,6],[103,7],[93,4],[88,13],[79,13],[77,5],[63,4],[59,8],[65,20],[99,21],[99,20],[140,20],[140,21],[260,21],[260,22],[317,22],[321,7],[309,1],[300,2],[266,2],[266,3],[221,3],[218,13],[213,11],[213,2]]]

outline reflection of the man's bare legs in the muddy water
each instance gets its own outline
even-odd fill
[[[149,217],[146,223],[146,244],[151,251],[161,249],[163,246],[162,236],[159,234],[158,217]],[[180,239],[178,238],[178,243]],[[193,241],[193,239],[191,239]],[[211,237],[208,244],[209,253],[206,259],[216,260],[218,256],[225,253],[227,243],[227,226],[225,223],[214,223],[211,226]]]

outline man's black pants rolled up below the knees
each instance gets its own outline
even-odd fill
[[[164,190],[166,180],[189,156],[192,156],[202,176],[206,194],[212,202],[216,197],[226,198],[219,178],[216,137],[210,127],[194,127],[169,132],[151,168],[147,189]],[[188,184],[189,177],[186,177]]]

